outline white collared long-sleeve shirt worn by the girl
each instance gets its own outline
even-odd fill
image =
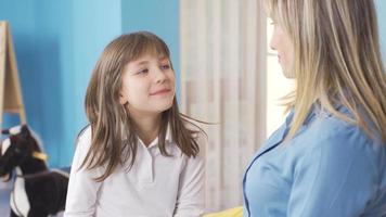
[[[129,171],[119,166],[103,182],[93,178],[102,168],[78,169],[91,145],[91,128],[79,137],[68,183],[65,217],[197,217],[205,210],[205,143],[188,157],[166,136],[163,156],[155,139],[147,148],[139,140],[137,158]]]

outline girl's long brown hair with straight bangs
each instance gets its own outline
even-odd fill
[[[119,92],[125,66],[144,54],[163,55],[170,60],[169,49],[160,38],[149,31],[138,31],[123,35],[108,43],[93,69],[85,99],[92,131],[91,148],[80,168],[103,167],[104,174],[97,177],[97,181],[103,181],[118,165],[126,165],[129,159],[130,169],[136,161],[138,128],[125,105],[119,103]],[[165,139],[170,126],[172,141],[182,153],[196,156],[200,150],[195,133],[198,131],[186,128],[186,123],[192,124],[189,119],[179,113],[175,98],[172,106],[162,113],[158,146],[163,155],[169,156]]]

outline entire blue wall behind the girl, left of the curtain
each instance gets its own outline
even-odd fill
[[[0,20],[13,33],[27,122],[40,135],[50,166],[70,164],[77,132],[87,124],[86,87],[111,40],[154,31],[170,46],[179,68],[178,11],[178,0],[0,0]],[[3,127],[17,123],[5,115]]]

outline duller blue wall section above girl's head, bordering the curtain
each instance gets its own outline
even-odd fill
[[[123,31],[149,30],[168,44],[176,71],[177,95],[180,95],[179,0],[123,0]]]

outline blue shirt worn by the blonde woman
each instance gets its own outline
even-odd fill
[[[340,106],[339,112],[349,114]],[[256,153],[243,180],[244,216],[386,216],[386,144],[318,106],[282,144],[293,118]]]

